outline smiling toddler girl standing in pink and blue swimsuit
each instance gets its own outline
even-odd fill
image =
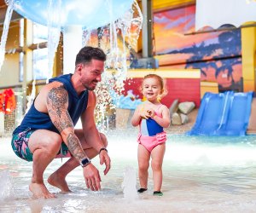
[[[162,163],[166,151],[166,132],[163,129],[171,123],[169,109],[159,101],[165,91],[163,79],[156,74],[148,74],[143,78],[141,89],[146,101],[137,107],[131,118],[133,126],[140,126],[137,158],[141,188],[137,192],[143,193],[148,189],[148,167],[151,157],[154,195],[162,196]]]

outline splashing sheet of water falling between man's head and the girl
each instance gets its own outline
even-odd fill
[[[109,15],[112,14],[111,3],[108,1]],[[99,128],[108,129],[104,122],[108,119],[108,114],[115,106],[113,100],[119,100],[124,89],[127,69],[130,66],[127,58],[130,52],[137,46],[137,38],[142,29],[143,14],[134,1],[129,9],[119,20],[112,21],[108,26],[102,26],[97,31],[84,29],[83,46],[92,45],[102,48],[107,53],[107,61],[103,73],[102,82],[98,83],[96,95],[98,104],[96,107],[96,120],[101,125]],[[98,41],[91,37],[97,36]],[[116,102],[116,101],[115,101]]]

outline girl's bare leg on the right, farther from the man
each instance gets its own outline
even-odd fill
[[[166,152],[166,143],[160,144],[151,152],[151,167],[153,170],[153,180],[154,180],[154,192],[159,192],[162,187],[162,179],[163,179],[163,173],[162,173],[162,164],[164,155]]]

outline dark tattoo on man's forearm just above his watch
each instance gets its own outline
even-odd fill
[[[86,157],[80,141],[74,133],[70,133],[67,136],[67,147],[69,151],[73,153],[73,157],[79,159],[79,161]]]

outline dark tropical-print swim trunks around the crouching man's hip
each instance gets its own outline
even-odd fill
[[[30,152],[28,147],[28,140],[33,132],[34,130],[31,130],[31,128],[27,128],[25,131],[22,131],[16,135],[13,135],[13,138],[11,141],[15,154],[18,157],[25,159],[26,161],[33,160],[33,155]]]

